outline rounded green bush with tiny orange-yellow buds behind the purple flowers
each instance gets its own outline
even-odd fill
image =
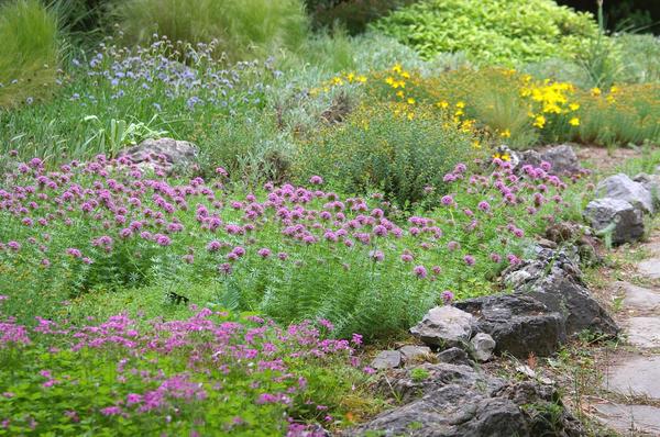
[[[402,208],[419,202],[427,186],[442,191],[444,173],[473,155],[472,136],[426,109],[400,111],[359,108],[299,147],[296,175],[321,175],[343,192],[376,187]]]

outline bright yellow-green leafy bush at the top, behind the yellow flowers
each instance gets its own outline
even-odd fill
[[[465,52],[479,64],[572,57],[597,36],[591,14],[551,0],[425,0],[374,24],[430,59]]]

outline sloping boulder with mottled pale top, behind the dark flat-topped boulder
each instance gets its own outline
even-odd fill
[[[560,313],[568,335],[584,329],[609,336],[618,333],[616,323],[582,282],[574,254],[543,249],[535,260],[525,260],[515,269],[505,271],[505,281],[517,279],[516,292],[528,293],[551,312]]]

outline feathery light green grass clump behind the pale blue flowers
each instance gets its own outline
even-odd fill
[[[127,0],[114,14],[129,41],[151,42],[154,32],[191,44],[217,38],[233,60],[296,49],[308,25],[301,0]]]

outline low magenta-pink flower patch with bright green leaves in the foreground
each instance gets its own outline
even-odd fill
[[[277,327],[256,316],[200,310],[188,320],[120,314],[82,326],[2,311],[0,435],[316,436],[341,422],[343,396],[365,381],[332,326]],[[333,417],[338,414],[337,417]]]

